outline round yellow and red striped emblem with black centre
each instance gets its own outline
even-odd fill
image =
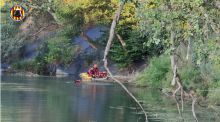
[[[21,5],[14,5],[10,10],[10,17],[14,21],[21,21],[25,17],[24,8]]]

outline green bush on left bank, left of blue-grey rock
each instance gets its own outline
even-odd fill
[[[71,43],[71,40],[63,36],[57,36],[48,39],[41,45],[39,54],[35,59],[18,61],[13,64],[13,68],[48,75],[50,65],[63,64],[67,66],[73,61],[75,54],[76,47]]]

